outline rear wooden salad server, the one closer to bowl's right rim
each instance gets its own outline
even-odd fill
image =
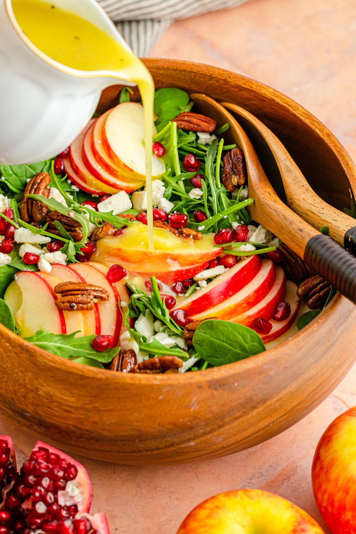
[[[252,126],[265,154],[274,158],[286,192],[288,206],[314,228],[326,224],[329,235],[356,255],[356,221],[349,215],[322,200],[305,179],[278,137],[246,109],[230,103],[222,103],[234,116],[239,116],[242,127]]]

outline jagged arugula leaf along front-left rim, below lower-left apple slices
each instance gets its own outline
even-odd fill
[[[118,350],[120,350],[118,347],[114,347],[98,352],[93,348],[95,335],[75,337],[77,333],[52,334],[44,330],[39,330],[33,336],[25,337],[25,339],[36,345],[36,347],[48,350],[52,354],[56,354],[67,360],[86,357],[97,360],[97,362],[109,363],[117,354]]]

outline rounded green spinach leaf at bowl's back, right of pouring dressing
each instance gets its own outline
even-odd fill
[[[185,111],[189,104],[189,95],[181,89],[175,87],[163,87],[155,91],[154,113],[157,115],[157,132],[160,132],[169,121],[174,119],[179,113]]]

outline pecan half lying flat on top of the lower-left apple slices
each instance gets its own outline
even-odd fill
[[[109,300],[106,289],[85,282],[61,282],[54,292],[61,295],[54,304],[64,311],[90,311],[94,303]]]

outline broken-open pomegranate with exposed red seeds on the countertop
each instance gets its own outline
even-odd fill
[[[88,514],[85,468],[41,441],[17,473],[11,438],[0,436],[0,489],[0,534],[109,534],[104,514]]]

